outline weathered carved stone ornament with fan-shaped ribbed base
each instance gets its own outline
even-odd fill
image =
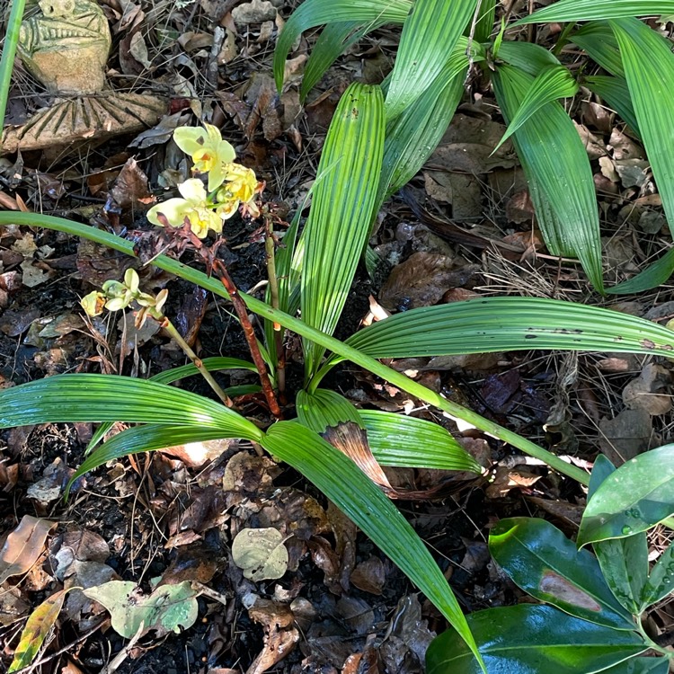
[[[39,0],[36,10],[22,22],[18,53],[54,102],[21,127],[4,129],[3,153],[100,142],[155,125],[163,100],[105,91],[112,39],[96,2]]]

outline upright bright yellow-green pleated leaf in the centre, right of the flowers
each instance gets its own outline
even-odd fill
[[[306,220],[302,320],[332,334],[368,241],[384,150],[384,101],[378,86],[351,84],[334,113]],[[324,348],[303,341],[307,380]]]

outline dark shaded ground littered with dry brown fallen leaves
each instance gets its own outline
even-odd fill
[[[290,9],[283,4],[277,12],[257,1],[109,0],[105,11],[115,35],[111,85],[163,95],[170,114],[162,128],[141,137],[70,155],[5,156],[4,206],[11,208],[18,195],[31,210],[133,236],[146,228],[148,197],[162,198],[163,188],[172,188],[187,170],[182,154],[167,143],[171,130],[196,123],[194,114],[203,113],[267,181],[265,197],[277,201],[284,216],[291,214],[315,178],[339,95],[354,77],[374,82],[386,74],[395,35],[380,31],[352,49],[301,109],[297,83],[313,38],[303,38],[293,52],[291,85],[280,98],[269,75],[278,29]],[[137,60],[144,53],[138,47],[129,51],[133,35],[141,36],[136,45],[145,43],[146,63]],[[509,144],[490,156],[503,132],[490,94],[477,79],[468,90],[472,98],[466,94],[439,150],[386,205],[371,242],[382,260],[380,278],[370,282],[359,272],[337,336],[358,328],[369,295],[391,312],[492,293],[602,302],[576,265],[545,254]],[[37,84],[17,67],[8,121],[19,123],[43,102]],[[658,197],[642,148],[606,109],[579,99],[573,115],[596,171],[607,279],[622,279],[667,242]],[[228,228],[226,262],[245,290],[264,278],[254,230],[238,219]],[[14,227],[0,230],[0,261],[0,386],[73,371],[147,377],[184,361],[155,325],[138,334],[132,320],[125,323],[120,315],[84,319],[79,298],[105,279],[120,279],[129,259],[64,235]],[[153,270],[141,277],[146,288],[169,288],[168,313],[193,338],[200,356],[247,358],[229,306]],[[674,315],[672,300],[664,287],[610,306],[667,321]],[[290,352],[292,383],[300,350]],[[581,466],[589,466],[599,449],[620,463],[671,436],[670,364],[664,360],[531,352],[392,365]],[[254,383],[245,372],[218,377],[223,386]],[[467,611],[516,601],[519,590],[490,562],[490,525],[534,515],[572,534],[584,504],[578,485],[473,430],[457,429],[349,365],[326,381],[363,406],[438,421],[489,469],[488,479],[472,482],[439,471],[387,473],[392,483],[417,489],[447,482],[443,498],[400,507]],[[208,395],[200,382],[184,386]],[[254,397],[238,403],[252,416],[265,416]],[[209,590],[198,599],[199,617],[190,629],[146,634],[129,648],[111,629],[107,612],[73,592],[40,653],[41,671],[423,670],[425,647],[445,628],[444,620],[301,475],[244,443],[226,442],[113,462],[88,474],[64,504],[63,485],[81,463],[92,431],[88,424],[49,424],[0,434],[0,533],[12,532],[24,515],[56,523],[30,571],[4,579],[0,668],[11,661],[25,617],[53,591],[121,579],[149,592],[151,580],[161,576],[164,582],[200,582]],[[232,562],[232,541],[243,528],[268,527],[286,539],[288,572],[279,581],[249,581]],[[667,543],[657,536],[655,550]],[[669,610],[652,615],[662,629],[670,626]]]

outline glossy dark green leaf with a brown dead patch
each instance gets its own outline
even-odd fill
[[[501,519],[489,535],[489,551],[532,597],[598,625],[634,629],[631,614],[608,589],[597,559],[577,550],[545,519]]]

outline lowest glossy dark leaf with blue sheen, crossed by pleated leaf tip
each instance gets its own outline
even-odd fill
[[[634,632],[568,616],[554,607],[522,604],[468,616],[490,674],[592,674],[647,650]],[[454,630],[426,653],[427,674],[477,674],[471,653]]]

